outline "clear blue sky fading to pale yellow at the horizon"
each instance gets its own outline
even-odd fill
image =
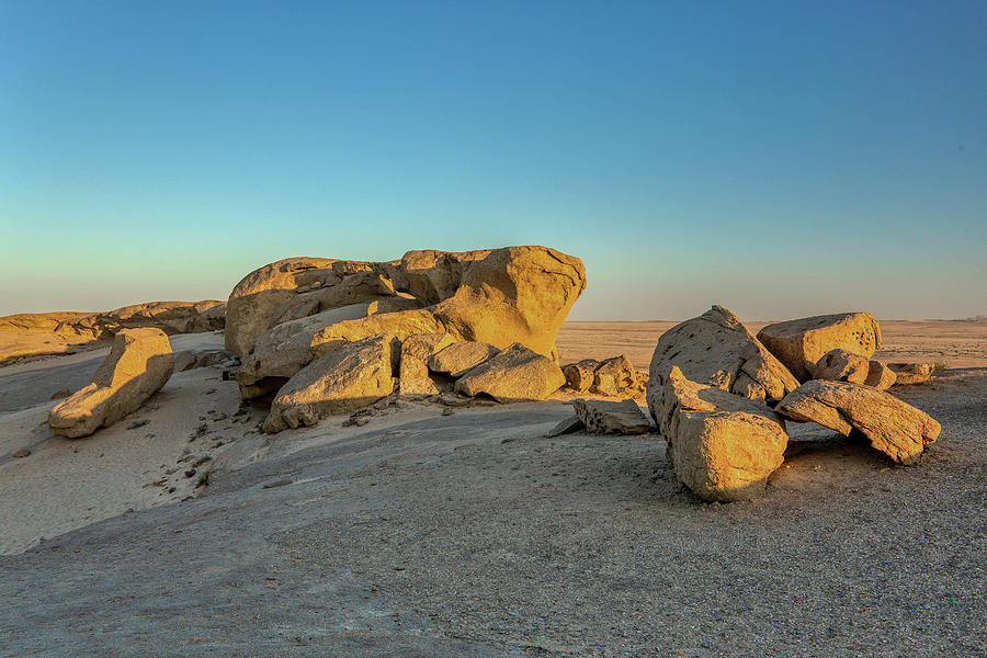
[[[987,3],[0,0],[0,315],[541,243],[571,319],[987,313]]]

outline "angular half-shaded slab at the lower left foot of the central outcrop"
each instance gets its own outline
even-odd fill
[[[313,418],[347,413],[390,395],[393,342],[393,337],[375,336],[306,365],[277,392],[264,432],[311,424]]]

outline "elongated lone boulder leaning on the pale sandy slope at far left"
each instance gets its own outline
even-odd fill
[[[168,336],[160,329],[122,329],[92,383],[48,413],[54,434],[88,436],[136,411],[164,386],[174,367]]]

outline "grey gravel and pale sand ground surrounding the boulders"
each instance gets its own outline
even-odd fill
[[[564,361],[647,367],[657,324],[588,325],[564,328]],[[987,350],[903,325],[882,325],[894,350]],[[917,466],[797,426],[768,496],[721,506],[677,484],[658,435],[545,439],[564,400],[401,402],[269,438],[207,367],[89,439],[50,436],[47,398],[103,356],[0,368],[0,552],[27,549],[0,557],[0,656],[987,650],[987,368],[894,389],[943,423]]]

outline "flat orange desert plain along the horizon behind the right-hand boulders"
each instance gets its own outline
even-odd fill
[[[757,333],[770,322],[745,322]],[[566,322],[556,347],[563,363],[626,354],[647,371],[658,338],[674,322]],[[964,320],[881,320],[884,345],[875,359],[887,363],[948,363],[987,367],[987,322]]]

